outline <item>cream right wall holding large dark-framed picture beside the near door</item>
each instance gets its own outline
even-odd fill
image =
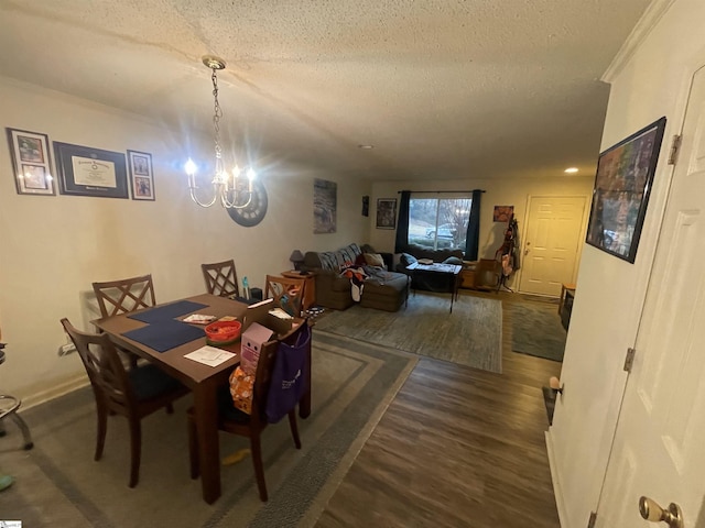
[[[682,125],[687,80],[696,64],[705,64],[703,20],[705,2],[657,1],[627,43],[636,45],[633,55],[621,55],[609,73],[603,148],[662,116],[669,121],[634,264],[592,246],[583,252],[561,374],[565,388],[547,435],[564,527],[585,526],[598,505],[627,377],[625,354],[636,341],[668,198],[670,140]]]

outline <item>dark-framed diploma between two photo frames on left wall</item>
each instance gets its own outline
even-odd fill
[[[62,195],[126,198],[128,175],[124,154],[54,142]]]

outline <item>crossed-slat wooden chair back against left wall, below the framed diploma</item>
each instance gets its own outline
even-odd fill
[[[93,283],[102,317],[118,316],[156,305],[152,275]]]

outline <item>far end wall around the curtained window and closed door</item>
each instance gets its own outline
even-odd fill
[[[597,154],[596,154],[597,161]],[[527,213],[529,197],[531,196],[585,196],[589,204],[593,194],[595,175],[558,176],[542,179],[516,178],[491,180],[489,178],[467,178],[447,182],[384,182],[372,184],[370,197],[370,243],[378,251],[394,251],[395,231],[376,229],[377,199],[397,198],[400,190],[473,190],[482,189],[480,208],[480,240],[478,249],[479,258],[494,258],[495,252],[505,241],[506,222],[495,222],[492,212],[495,206],[514,206],[514,217],[519,222],[519,241],[523,244],[523,235],[527,228]],[[589,211],[585,211],[587,218]],[[579,257],[579,255],[578,255]],[[512,275],[509,285],[519,284],[521,270]]]

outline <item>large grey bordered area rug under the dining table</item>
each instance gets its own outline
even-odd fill
[[[19,432],[8,425],[0,468],[15,483],[0,496],[0,519],[72,528],[313,526],[416,360],[314,329],[313,411],[299,420],[303,447],[294,448],[286,420],[262,436],[268,503],[259,499],[249,457],[223,466],[221,497],[203,502],[200,481],[188,476],[188,396],[173,415],[142,421],[140,482],[130,490],[127,422],[109,419],[105,454],[95,462],[95,404],[82,388],[23,413],[32,451],[19,449]],[[220,436],[221,458],[247,447]]]

